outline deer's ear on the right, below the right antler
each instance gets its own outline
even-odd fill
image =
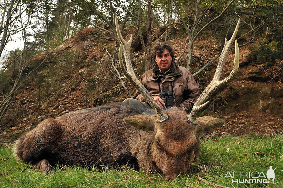
[[[197,134],[206,133],[214,130],[224,124],[223,119],[217,119],[210,116],[197,118]]]

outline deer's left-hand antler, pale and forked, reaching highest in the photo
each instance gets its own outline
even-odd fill
[[[154,98],[151,96],[151,94],[147,91],[147,89],[142,85],[142,83],[137,79],[135,71],[133,69],[131,58],[130,58],[130,45],[132,42],[132,35],[130,37],[130,40],[126,42],[119,30],[119,24],[117,15],[115,14],[115,24],[116,24],[116,31],[119,40],[121,41],[120,47],[119,47],[119,64],[120,67],[124,73],[124,75],[130,80],[130,82],[136,87],[136,89],[142,94],[142,96],[145,98],[145,100],[150,104],[150,106],[153,108],[154,112],[157,115],[157,121],[163,122],[168,119],[168,115],[164,114],[162,112],[162,108],[157,104],[157,102],[154,100]],[[122,58],[122,47],[124,50],[124,57],[126,62],[127,71],[125,70],[125,66],[123,64],[123,58]]]

